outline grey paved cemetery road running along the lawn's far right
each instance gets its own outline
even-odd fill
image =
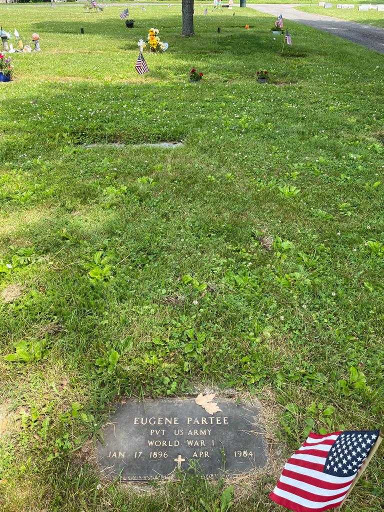
[[[248,4],[247,7],[292,20],[292,22],[302,23],[318,30],[329,32],[330,34],[343,37],[349,41],[356,42],[370,50],[384,54],[384,29],[372,27],[371,25],[361,25],[360,23],[346,22],[344,20],[314,14],[304,11],[298,11],[295,7],[300,4]]]

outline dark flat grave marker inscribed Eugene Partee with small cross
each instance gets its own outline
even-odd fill
[[[199,395],[201,396],[201,395]],[[267,463],[260,407],[216,399],[209,414],[194,398],[129,399],[103,429],[96,459],[105,477],[149,481],[177,468],[199,468],[207,478],[248,473]]]

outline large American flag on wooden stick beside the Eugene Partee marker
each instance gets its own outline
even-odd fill
[[[321,512],[339,506],[367,459],[380,431],[310,433],[284,466],[269,497],[295,512]]]

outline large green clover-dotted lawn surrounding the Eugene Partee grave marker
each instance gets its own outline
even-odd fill
[[[382,421],[382,55],[292,23],[281,55],[248,9],[198,6],[188,39],[180,8],[132,8],[133,30],[120,10],[0,7],[42,48],[0,86],[2,512],[216,499],[198,477],[139,494],[100,478],[88,447],[121,395],[249,392],[282,457],[309,429]],[[169,50],[140,77],[152,26]],[[184,146],[135,145],[156,141]],[[344,510],[382,510],[383,478],[378,455]],[[274,482],[238,483],[231,510],[278,510]]]

